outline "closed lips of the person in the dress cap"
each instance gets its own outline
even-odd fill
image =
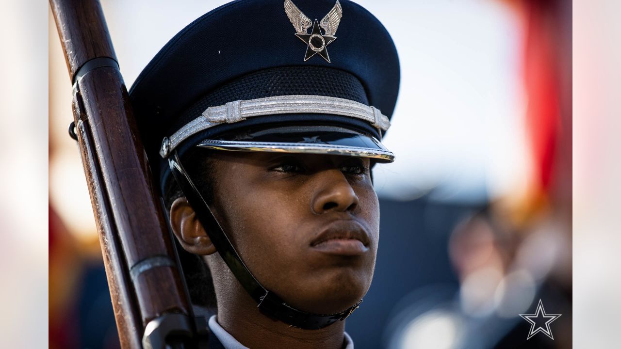
[[[369,234],[355,220],[337,220],[312,240],[311,247],[334,255],[361,255],[369,250]]]

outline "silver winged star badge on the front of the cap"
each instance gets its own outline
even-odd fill
[[[330,63],[327,46],[337,39],[334,35],[337,33],[341,17],[343,17],[343,9],[338,0],[321,22],[317,22],[317,19],[315,19],[315,22],[311,22],[311,19],[302,13],[291,0],[284,0],[284,12],[286,12],[287,17],[291,20],[291,24],[296,29],[296,37],[299,37],[300,40],[308,45],[304,61],[318,53]],[[308,34],[308,29],[311,27],[311,34]],[[321,34],[319,27],[324,29],[324,34]]]

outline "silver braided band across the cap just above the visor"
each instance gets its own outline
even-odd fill
[[[188,137],[227,122],[239,122],[248,117],[275,114],[333,114],[365,120],[381,131],[388,130],[390,121],[379,109],[349,99],[327,96],[291,95],[233,101],[223,106],[209,107],[201,116],[188,122],[170,138],[164,138],[160,156],[166,158]]]

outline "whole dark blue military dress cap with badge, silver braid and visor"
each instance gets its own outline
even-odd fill
[[[162,160],[193,147],[391,162],[380,141],[398,89],[394,43],[358,4],[240,0],[175,35],[129,94],[164,186]]]

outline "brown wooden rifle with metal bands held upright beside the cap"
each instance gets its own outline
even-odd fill
[[[188,292],[101,5],[50,4],[73,81],[75,129],[121,347],[193,347]]]

